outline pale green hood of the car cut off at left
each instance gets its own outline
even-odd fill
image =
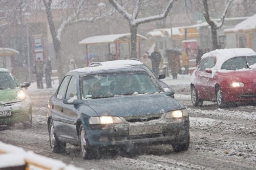
[[[17,102],[17,91],[19,88],[0,90],[0,105],[10,102]]]

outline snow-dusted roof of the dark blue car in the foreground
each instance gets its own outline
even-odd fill
[[[74,69],[69,71],[69,73],[77,72],[79,75],[80,74],[90,75],[90,74],[103,73],[103,72],[121,72],[121,71],[145,71],[145,70],[139,67],[134,67],[132,65],[111,65],[111,66],[98,65],[94,67]]]

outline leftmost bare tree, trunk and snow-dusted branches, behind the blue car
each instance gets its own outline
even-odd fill
[[[79,17],[79,14],[82,11],[82,8],[84,7],[84,3],[87,0],[79,0],[76,7],[74,8],[74,12],[71,13],[65,20],[63,20],[59,26],[58,29],[55,27],[53,15],[52,15],[52,0],[42,0],[44,3],[47,19],[49,23],[50,32],[52,35],[53,40],[53,47],[55,52],[55,58],[57,59],[57,70],[58,70],[58,77],[59,80],[61,80],[64,76],[63,74],[63,61],[61,57],[61,38],[65,30],[68,26],[73,25],[78,22],[93,22],[95,19],[99,19],[108,15],[111,15],[113,13],[113,10],[110,10],[108,12],[102,13],[100,12],[98,15],[94,15],[92,17],[89,17],[89,15]],[[89,2],[89,1],[88,1]]]

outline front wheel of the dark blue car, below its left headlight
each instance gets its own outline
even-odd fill
[[[81,125],[79,130],[79,139],[80,139],[80,149],[83,159],[90,159],[92,150],[90,149],[89,142],[86,135],[86,130]]]

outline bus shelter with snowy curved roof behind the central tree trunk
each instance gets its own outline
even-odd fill
[[[139,49],[139,57],[141,57],[141,47],[140,47],[140,41],[146,40],[147,38],[137,34],[137,43],[138,43],[138,49]],[[115,44],[115,60],[119,58],[119,44],[120,43],[129,43],[129,52],[130,52],[130,44],[131,42],[131,34],[110,34],[110,35],[99,35],[99,36],[93,36],[88,37],[79,42],[79,44],[86,46],[86,58],[87,58],[87,65],[89,65],[89,45],[97,45],[97,44],[108,44],[109,54],[111,53],[110,44]],[[131,52],[130,52],[131,57]]]

